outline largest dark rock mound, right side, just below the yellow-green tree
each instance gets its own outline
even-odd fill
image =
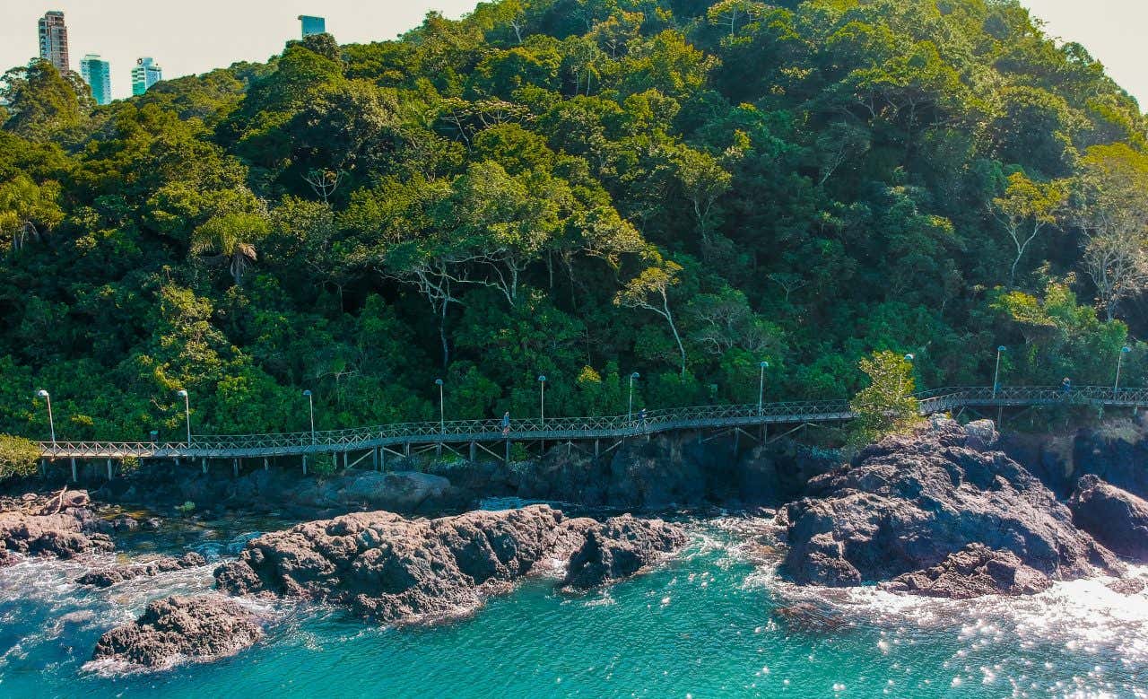
[[[783,570],[804,584],[856,585],[936,566],[975,543],[1054,578],[1119,569],[1040,481],[983,450],[985,432],[936,420],[814,479],[809,497],[778,512],[790,544]]]

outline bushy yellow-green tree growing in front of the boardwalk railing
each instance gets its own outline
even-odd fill
[[[917,399],[913,397],[916,382],[912,360],[884,350],[862,359],[859,367],[869,378],[869,386],[850,401],[858,415],[850,422],[851,445],[870,444],[885,435],[912,429],[921,421]]]

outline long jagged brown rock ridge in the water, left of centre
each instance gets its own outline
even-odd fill
[[[257,537],[216,569],[216,581],[235,595],[320,599],[382,622],[429,621],[560,566],[596,527],[545,505],[435,520],[354,513]]]

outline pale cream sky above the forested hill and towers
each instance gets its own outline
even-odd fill
[[[1117,83],[1148,104],[1145,0],[1022,0],[1047,31],[1079,41]],[[111,62],[113,96],[131,93],[131,69],[153,56],[165,78],[265,61],[298,37],[298,15],[319,15],[341,44],[391,39],[437,9],[457,17],[476,0],[0,0],[0,70],[38,53],[36,21],[65,14],[72,68],[87,53]]]

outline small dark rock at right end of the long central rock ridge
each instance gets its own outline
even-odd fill
[[[629,577],[684,543],[685,533],[675,525],[629,514],[611,518],[585,531],[585,542],[571,557],[563,583],[588,589]]]

